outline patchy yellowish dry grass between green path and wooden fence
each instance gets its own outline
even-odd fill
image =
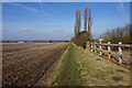
[[[84,50],[81,59],[81,77],[84,86],[129,86],[130,70]]]

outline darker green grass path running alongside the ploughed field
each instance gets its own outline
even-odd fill
[[[66,56],[63,59],[58,77],[54,84],[57,86],[80,86],[80,70],[77,58],[79,57],[80,48],[77,48],[75,45],[70,44]]]

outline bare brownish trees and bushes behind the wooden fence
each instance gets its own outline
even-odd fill
[[[128,24],[124,28],[116,28],[112,30],[107,30],[102,37],[109,40],[112,43],[123,42],[125,44],[132,44],[132,30],[131,25]]]

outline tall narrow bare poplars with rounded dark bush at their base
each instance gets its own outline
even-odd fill
[[[87,16],[88,16],[88,19],[87,19]],[[90,31],[91,31],[91,24],[92,24],[90,8],[89,8],[89,15],[87,15],[87,6],[85,7],[85,10],[84,10],[84,21],[85,21],[84,31],[80,32],[80,23],[81,23],[80,10],[77,9],[76,10],[76,21],[75,21],[75,36],[72,38],[72,41],[76,45],[85,48],[87,41],[91,40]],[[87,30],[87,21],[88,21],[88,30]]]

